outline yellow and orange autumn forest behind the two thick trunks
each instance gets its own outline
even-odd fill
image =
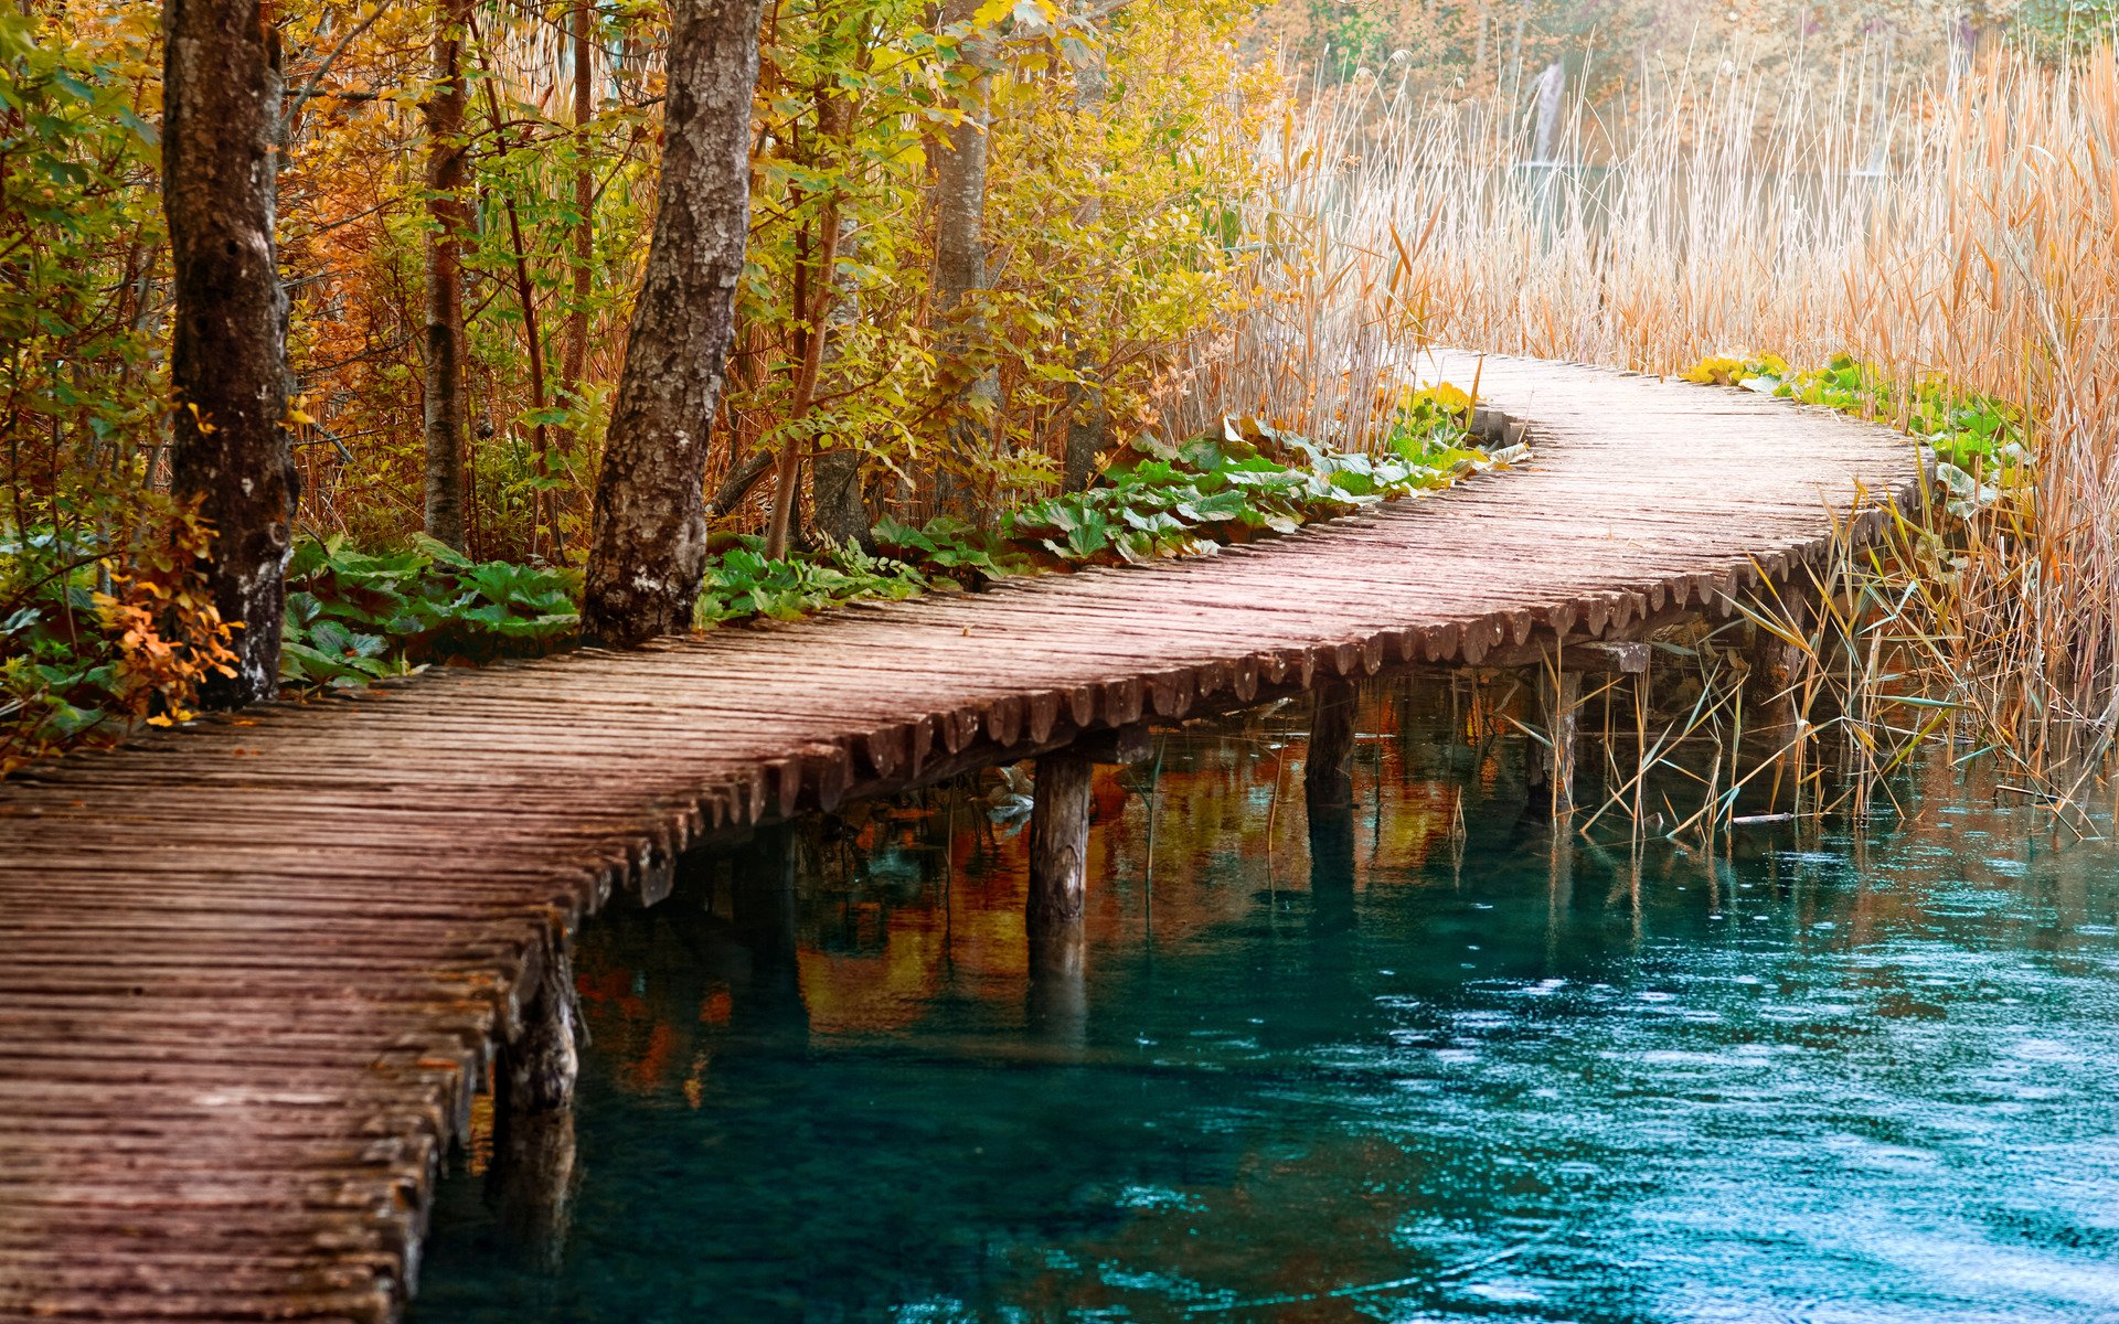
[[[445,572],[468,616],[422,627],[458,652],[564,631],[653,233],[663,19],[275,11],[297,627],[341,580],[409,602]],[[1411,159],[1407,125],[1477,123],[1454,142],[1496,169],[1757,150],[1801,89],[1839,121],[1928,123],[1981,66],[2064,76],[2111,21],[2096,0],[773,0],[708,468],[720,547],[977,527],[1225,417],[1360,449],[1403,400],[1399,350],[1568,352],[1526,303],[1462,288],[1475,267],[1418,189],[1350,237],[1363,153]],[[8,761],[167,718],[212,665],[184,572],[210,530],[165,496],[159,38],[153,4],[0,11],[0,703],[30,731]],[[1903,155],[1880,144],[1854,165]],[[1564,248],[1574,225],[1541,233]],[[1583,356],[1782,347],[1719,330]],[[290,638],[297,676],[367,674],[373,636]]]

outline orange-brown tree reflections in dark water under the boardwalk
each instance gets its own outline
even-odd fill
[[[1452,744],[1452,722],[1479,744]],[[1432,686],[1369,686],[1343,816],[1312,839],[1290,775],[1278,839],[1267,841],[1263,797],[1282,782],[1282,761],[1303,767],[1305,727],[1303,705],[1278,705],[1168,735],[1153,775],[1098,769],[1083,945],[1043,962],[1032,962],[1021,917],[1026,837],[994,830],[987,813],[1004,790],[998,777],[799,820],[691,858],[674,900],[602,919],[612,941],[591,930],[576,983],[598,1055],[621,1089],[680,1089],[699,1106],[716,1042],[746,1023],[797,1036],[886,1034],[945,1002],[985,1006],[994,1027],[1079,1023],[1089,953],[1127,953],[1146,936],[1151,839],[1165,883],[1153,898],[1157,943],[1244,924],[1267,892],[1284,905],[1316,894],[1324,924],[1346,926],[1369,871],[1418,871],[1452,839],[1464,769],[1479,780],[1471,794],[1509,794],[1509,727],[1490,695],[1475,693],[1468,712],[1452,716],[1447,693]],[[1367,820],[1360,833],[1356,820]],[[1329,879],[1322,892],[1305,885],[1312,854],[1322,858],[1316,877]],[[1280,860],[1271,885],[1269,858]],[[1034,981],[1034,966],[1047,979]],[[670,1004],[687,1013],[657,1013]]]

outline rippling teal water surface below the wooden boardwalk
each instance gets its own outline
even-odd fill
[[[1555,849],[1464,724],[1320,824],[1293,716],[1104,769],[1038,970],[968,797],[602,919],[564,1252],[453,1176],[413,1320],[2119,1322],[2119,856]]]

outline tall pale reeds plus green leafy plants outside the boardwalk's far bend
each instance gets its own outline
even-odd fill
[[[2081,38],[1956,51],[1911,87],[1873,47],[1812,76],[1708,57],[1560,106],[1528,157],[1521,100],[1384,76],[1295,125],[1290,153],[1343,163],[1312,256],[1339,343],[1697,369],[1939,451],[1933,500],[1805,602],[1682,644],[1708,699],[1670,741],[1733,758],[1757,629],[1793,652],[1799,724],[1678,820],[1791,777],[1803,813],[1890,811],[1922,750],[1994,761],[2062,833],[2119,794],[2119,64],[2108,28]]]

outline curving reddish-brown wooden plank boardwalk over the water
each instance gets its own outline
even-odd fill
[[[6,784],[0,1318],[390,1318],[542,936],[687,845],[1316,674],[1623,638],[1916,477],[1882,428],[1733,390],[1488,358],[1481,398],[1532,464],[1221,557],[426,676]]]

